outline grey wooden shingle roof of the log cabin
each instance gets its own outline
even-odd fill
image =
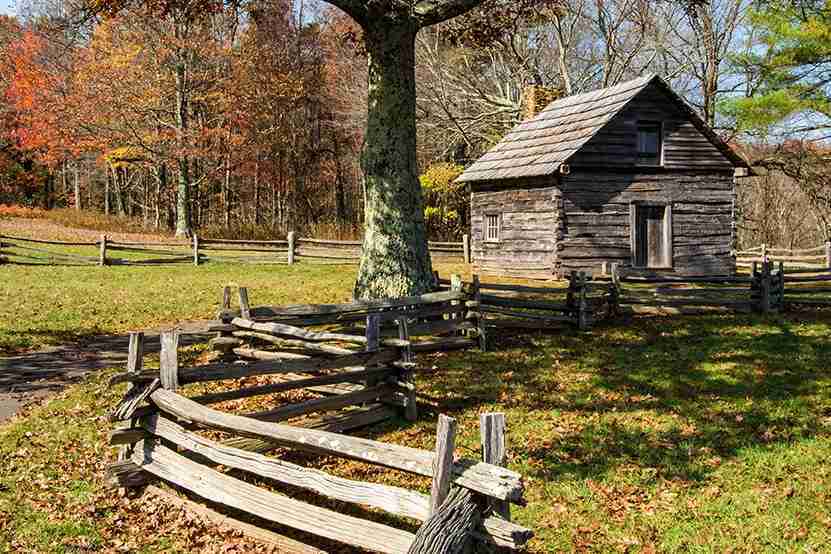
[[[633,98],[651,83],[666,91],[690,121],[737,166],[747,162],[721,140],[695,111],[660,77],[647,75],[613,87],[567,96],[523,121],[484,156],[468,167],[458,182],[498,181],[554,174]]]

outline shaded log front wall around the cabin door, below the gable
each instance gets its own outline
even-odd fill
[[[561,178],[557,271],[633,266],[631,206],[671,207],[671,271],[731,274],[736,264],[735,185],[730,171],[573,171]]]

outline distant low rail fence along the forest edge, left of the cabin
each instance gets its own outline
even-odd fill
[[[470,263],[470,241],[430,242],[442,262]],[[206,239],[120,242],[102,235],[96,242],[62,242],[0,235],[0,264],[9,265],[170,265],[204,263],[350,265],[361,258],[361,242],[296,238],[286,240]]]

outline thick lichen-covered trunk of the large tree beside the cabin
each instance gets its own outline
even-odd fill
[[[366,192],[356,298],[394,298],[435,285],[416,163],[413,21],[365,29],[369,106],[362,156]]]

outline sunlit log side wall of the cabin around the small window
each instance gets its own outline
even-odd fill
[[[471,193],[471,255],[474,271],[551,278],[555,230],[561,213],[560,190],[553,179],[474,186]],[[498,241],[485,240],[485,220],[498,215]]]

